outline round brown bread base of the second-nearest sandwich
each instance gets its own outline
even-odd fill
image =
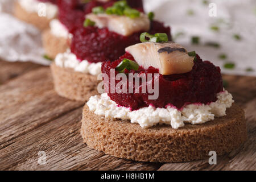
[[[75,72],[71,68],[61,68],[51,64],[55,91],[62,97],[75,101],[88,101],[98,94],[97,76]]]

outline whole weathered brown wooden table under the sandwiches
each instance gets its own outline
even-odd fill
[[[256,78],[224,76],[245,109],[247,141],[236,151],[188,163],[144,163],[105,155],[80,136],[84,103],[59,97],[48,67],[0,61],[1,170],[256,170]],[[46,164],[39,165],[39,151]]]

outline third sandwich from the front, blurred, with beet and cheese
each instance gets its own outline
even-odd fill
[[[112,6],[115,0],[107,1],[59,1],[58,18],[51,20],[49,28],[43,32],[42,42],[47,57],[54,59],[58,53],[67,51],[70,46],[72,31],[80,27],[85,15],[92,13],[94,7],[102,6],[105,9]]]

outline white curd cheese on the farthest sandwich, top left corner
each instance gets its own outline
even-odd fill
[[[40,2],[36,0],[19,0],[19,5],[29,13],[38,13],[40,11],[40,3],[46,5],[46,17],[52,19],[57,15],[57,6],[49,2]]]

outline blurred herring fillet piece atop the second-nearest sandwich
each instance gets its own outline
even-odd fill
[[[123,36],[129,36],[134,32],[150,30],[150,20],[147,15],[141,13],[138,18],[131,19],[127,16],[94,14],[86,15],[86,18],[96,23],[98,28],[108,28]]]

